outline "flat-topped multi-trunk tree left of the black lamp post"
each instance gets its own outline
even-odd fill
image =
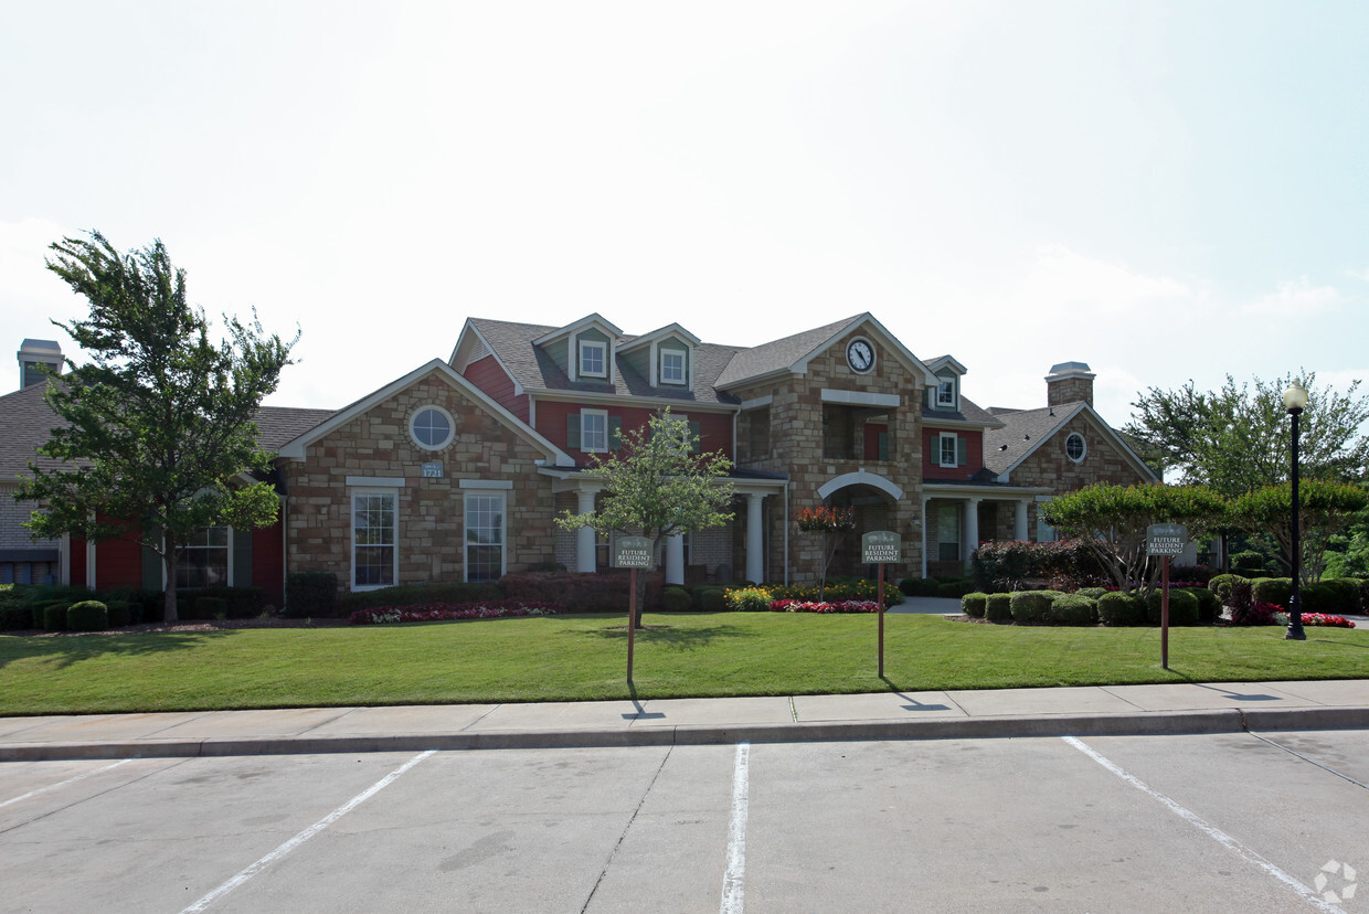
[[[1124,591],[1149,592],[1160,560],[1146,550],[1151,524],[1183,524],[1202,536],[1227,519],[1227,501],[1203,486],[1086,486],[1042,505],[1046,523],[1083,540]]]

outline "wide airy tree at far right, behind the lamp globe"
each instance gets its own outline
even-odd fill
[[[1369,464],[1369,394],[1359,382],[1346,393],[1328,384],[1316,390],[1306,372],[1307,406],[1299,421],[1299,469],[1305,479],[1354,482]],[[1151,387],[1132,404],[1124,432],[1160,469],[1177,471],[1179,482],[1203,484],[1236,498],[1288,479],[1291,436],[1283,391],[1292,378],[1254,389],[1227,375],[1221,390],[1201,393],[1192,380],[1177,390]]]

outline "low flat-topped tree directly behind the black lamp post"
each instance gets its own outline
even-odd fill
[[[1298,483],[1299,573],[1302,583],[1321,580],[1331,538],[1344,532],[1355,513],[1369,506],[1369,493],[1359,486],[1320,479]],[[1292,568],[1292,484],[1269,486],[1242,495],[1232,514],[1251,531],[1272,534],[1279,560]]]

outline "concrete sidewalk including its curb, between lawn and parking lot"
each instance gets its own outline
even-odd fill
[[[0,761],[1369,728],[1369,680],[0,718]]]

